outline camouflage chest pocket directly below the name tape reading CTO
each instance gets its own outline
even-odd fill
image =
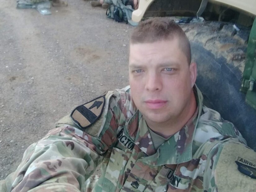
[[[131,152],[128,150],[123,151],[115,147],[112,149],[102,189],[109,192],[114,192],[116,190],[119,181],[122,181],[124,168],[128,162],[130,154]]]

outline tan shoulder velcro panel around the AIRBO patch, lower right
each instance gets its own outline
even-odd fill
[[[256,191],[256,152],[240,143],[225,143],[215,170],[218,192]]]

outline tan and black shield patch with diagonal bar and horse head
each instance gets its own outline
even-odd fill
[[[105,96],[97,97],[75,108],[70,117],[81,128],[87,128],[100,118],[105,105]]]

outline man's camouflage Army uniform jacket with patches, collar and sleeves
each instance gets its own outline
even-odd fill
[[[256,166],[255,153],[194,92],[196,113],[157,150],[128,87],[77,107],[29,146],[0,191],[255,191],[256,180],[236,166]],[[90,177],[100,163],[101,177]]]

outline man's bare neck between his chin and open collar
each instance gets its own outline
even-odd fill
[[[188,105],[178,116],[168,119],[166,122],[156,123],[151,122],[148,119],[145,119],[150,129],[154,132],[157,132],[159,135],[168,138],[171,135],[174,135],[176,132],[180,131],[182,127],[191,119],[196,110],[196,100],[195,94],[192,90],[191,97],[188,102]]]

